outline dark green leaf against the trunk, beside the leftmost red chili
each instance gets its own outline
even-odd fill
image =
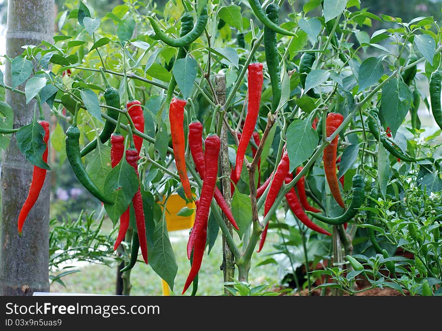
[[[17,132],[17,145],[20,152],[33,165],[51,170],[49,165],[43,161],[43,153],[47,145],[44,142],[45,130],[35,119],[28,125],[21,127]]]

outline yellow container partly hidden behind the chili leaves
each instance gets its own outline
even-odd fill
[[[163,201],[161,206],[164,204],[165,197],[163,197]],[[167,231],[177,231],[177,230],[185,230],[193,227],[193,222],[195,220],[195,212],[193,212],[190,216],[178,216],[177,213],[182,208],[187,206],[189,209],[195,209],[195,202],[187,203],[181,198],[178,193],[173,193],[166,202],[166,224]]]

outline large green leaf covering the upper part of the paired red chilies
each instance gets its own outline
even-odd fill
[[[107,155],[107,157],[110,161],[110,155]],[[96,159],[100,159],[100,156],[97,156]],[[99,175],[99,172],[96,174]],[[115,200],[114,204],[104,203],[104,209],[106,209],[107,215],[112,219],[115,226],[138,191],[138,176],[135,173],[135,169],[126,161],[126,158],[122,158],[114,169],[106,174],[101,174],[101,177],[105,178],[103,183],[104,194]]]

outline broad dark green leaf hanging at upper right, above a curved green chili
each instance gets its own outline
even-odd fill
[[[397,78],[391,79],[382,87],[379,118],[384,128],[390,127],[393,138],[408,113],[411,99],[410,89]]]

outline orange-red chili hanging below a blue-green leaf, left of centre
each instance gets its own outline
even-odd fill
[[[183,185],[184,193],[189,200],[192,200],[192,192],[190,190],[189,178],[186,171],[185,150],[186,144],[184,142],[184,106],[186,101],[172,98],[169,106],[169,121],[170,134],[172,136],[173,155],[175,157],[176,169]]]

